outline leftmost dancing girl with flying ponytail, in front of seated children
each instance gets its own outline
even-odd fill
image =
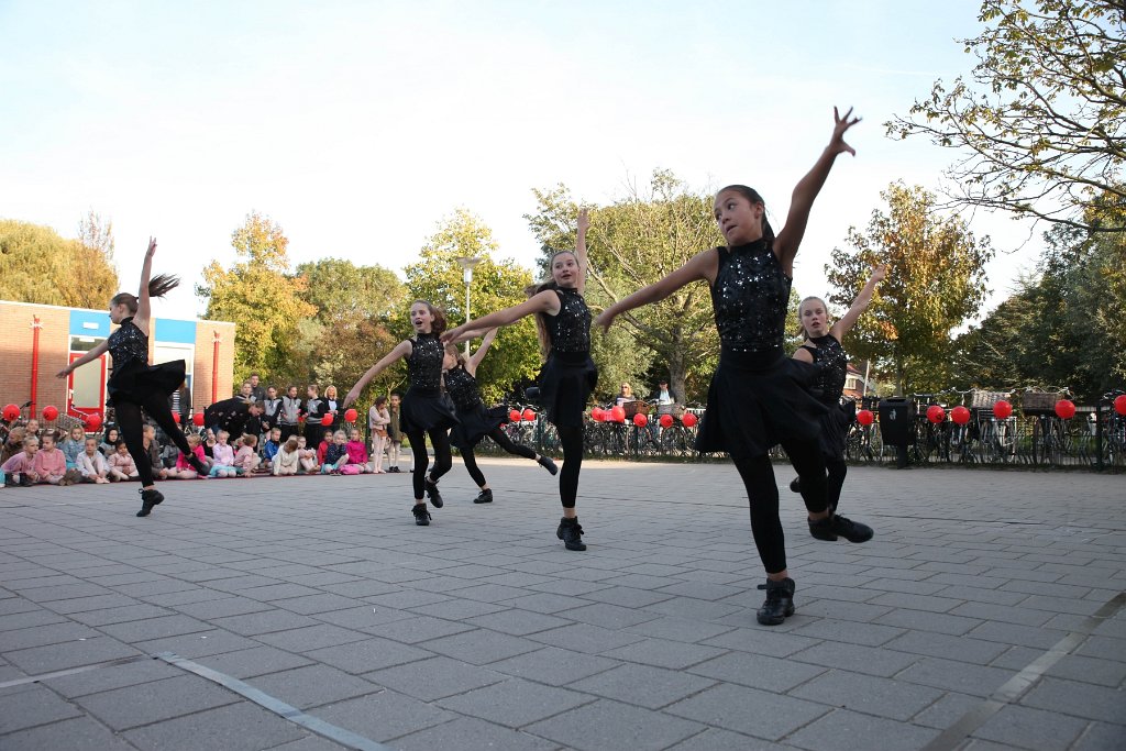
[[[169,395],[184,383],[184,360],[149,365],[149,324],[152,318],[150,307],[153,297],[163,297],[175,289],[180,280],[172,276],[152,275],[152,257],[157,253],[157,241],[149,239],[149,250],[145,252],[141,267],[141,288],[136,295],[119,293],[109,301],[109,320],[118,324],[116,331],[109,334],[89,352],[74,360],[59,372],[60,378],[65,378],[75,368],[96,360],[106,351],[114,358],[114,373],[106,384],[109,397],[113,400],[117,414],[117,426],[122,438],[128,448],[129,456],[136,464],[141,476],[141,510],[138,517],[146,517],[152,507],[164,500],[164,497],[153,481],[152,465],[144,448],[142,435],[143,420],[141,410],[176,442],[176,446],[187,455],[191,467],[203,474],[205,468],[199,459],[191,454],[184,432],[172,419],[169,406]]]

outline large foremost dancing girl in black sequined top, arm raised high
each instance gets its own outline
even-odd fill
[[[772,446],[783,445],[802,479],[814,537],[834,540],[843,536],[852,542],[872,537],[864,525],[828,510],[825,466],[817,447],[817,417],[824,406],[807,391],[813,368],[787,358],[783,349],[794,257],[813,200],[837,155],[855,154],[844,143],[844,132],[859,122],[851,114],[849,109],[841,117],[833,109],[832,138],[794,188],[786,226],[777,236],[758,193],[745,186],[724,188],[715,197],[715,220],[727,245],[696,254],[660,281],[610,305],[597,321],[608,329],[626,311],[663,299],[692,281],[708,283],[721,354],[696,447],[727,452],[747,488],[751,533],[767,571],[767,599],[758,611],[765,625],[780,624],[794,613],[778,485],[767,455]]]

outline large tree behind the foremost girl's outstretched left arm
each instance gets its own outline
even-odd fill
[[[546,262],[554,249],[574,247],[579,206],[563,186],[535,195],[539,207],[527,218],[544,245]],[[647,190],[634,188],[609,206],[590,207],[584,296],[591,309],[602,310],[680,268],[700,250],[722,244],[712,200],[711,195],[688,190],[671,172],[658,170]],[[652,365],[669,374],[673,392],[699,397],[688,384],[706,388],[706,378],[694,376],[715,368],[720,345],[712,318],[707,285],[689,285],[643,311],[624,314],[625,325],[608,334],[592,330],[600,394],[617,393],[617,383],[636,379]]]

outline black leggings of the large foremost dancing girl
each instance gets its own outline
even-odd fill
[[[810,513],[819,513],[825,504],[825,459],[816,440],[784,441],[783,448],[801,477],[802,500]],[[739,476],[747,488],[751,507],[751,535],[767,573],[786,570],[786,536],[778,518],[778,484],[770,457],[756,456],[735,461]]]

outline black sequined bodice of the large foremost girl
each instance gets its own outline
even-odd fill
[[[778,257],[765,240],[717,250],[712,306],[723,348],[763,364],[783,357],[792,281]]]

